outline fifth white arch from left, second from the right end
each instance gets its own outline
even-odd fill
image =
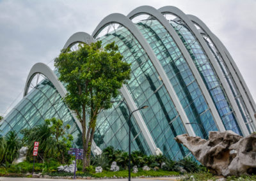
[[[195,25],[191,22],[191,20],[189,20],[188,16],[185,13],[183,13],[183,11],[179,10],[179,8],[176,8],[174,6],[164,6],[162,8],[159,8],[159,11],[162,14],[170,13],[172,15],[179,17],[180,20],[182,20],[188,26],[191,33],[193,33],[195,35],[196,40],[198,40],[198,42],[204,49],[205,54],[209,58],[209,61],[211,62],[214,70],[216,71],[216,75],[218,76],[218,78],[221,82],[221,85],[223,86],[223,89],[226,92],[227,98],[230,101],[230,105],[234,109],[234,114],[237,117],[237,123],[239,124],[243,135],[244,136],[249,135],[246,125],[244,124],[243,117],[239,111],[239,108],[236,104],[234,97],[232,96],[232,91],[230,90],[230,87],[227,85],[227,82],[225,82],[225,80],[222,76],[220,67],[218,66],[217,62],[215,61],[213,55],[211,54],[209,47],[207,46],[206,42],[203,40],[202,36],[196,29]]]

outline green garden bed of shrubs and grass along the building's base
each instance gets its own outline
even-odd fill
[[[54,120],[54,119],[53,119]],[[71,164],[74,156],[68,155],[70,143],[62,141],[61,145],[64,152],[58,151],[58,141],[52,131],[53,122],[49,120],[43,125],[36,126],[33,129],[24,129],[23,138],[17,138],[14,132],[1,137],[1,177],[32,177],[33,141],[40,140],[40,149],[36,157],[33,177],[41,178],[72,178],[74,173],[58,171],[58,167],[63,164]],[[55,124],[58,121],[55,122]],[[58,123],[60,124],[60,122]],[[55,125],[56,126],[56,125]],[[39,134],[35,134],[39,133]],[[67,135],[66,135],[67,136]],[[72,140],[70,138],[70,140]],[[29,144],[32,143],[32,144]],[[13,160],[19,157],[18,150],[22,146],[28,146],[26,160],[22,163],[13,164]],[[65,155],[63,159],[62,155]],[[107,147],[100,156],[92,157],[90,166],[83,170],[81,160],[77,161],[76,175],[78,178],[126,178],[128,177],[128,154],[122,150],[114,150],[113,147]],[[119,171],[111,171],[113,161],[120,167]],[[131,163],[138,166],[137,173],[131,173],[131,177],[167,177],[179,176],[181,180],[218,180],[220,177],[214,176],[207,169],[198,164],[192,157],[186,157],[180,161],[173,161],[162,155],[146,156],[140,151],[134,151],[131,154]],[[95,173],[97,166],[102,167],[101,173]],[[143,166],[148,166],[150,170],[143,170]],[[227,177],[227,180],[256,180],[255,176]]]

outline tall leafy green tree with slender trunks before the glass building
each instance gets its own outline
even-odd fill
[[[60,81],[67,83],[64,101],[76,112],[82,125],[84,171],[90,165],[97,116],[102,110],[111,108],[111,98],[118,96],[118,89],[130,78],[131,65],[122,61],[115,42],[104,48],[101,41],[78,47],[74,52],[63,50],[54,65],[60,73]]]

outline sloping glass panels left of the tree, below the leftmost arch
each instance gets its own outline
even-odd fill
[[[1,134],[15,131],[18,136],[22,136],[21,129],[43,124],[45,119],[52,117],[61,119],[64,125],[70,125],[67,131],[72,134],[74,146],[77,146],[76,141],[81,131],[54,85],[45,78],[4,117]]]

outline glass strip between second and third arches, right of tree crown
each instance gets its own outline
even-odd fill
[[[131,63],[131,80],[127,89],[136,106],[148,105],[140,111],[156,145],[166,156],[181,158],[186,156],[185,148],[173,138],[186,133],[170,96],[159,80],[159,75],[140,43],[124,27],[100,38],[103,45],[115,41],[124,61]],[[164,134],[163,134],[164,133]]]

